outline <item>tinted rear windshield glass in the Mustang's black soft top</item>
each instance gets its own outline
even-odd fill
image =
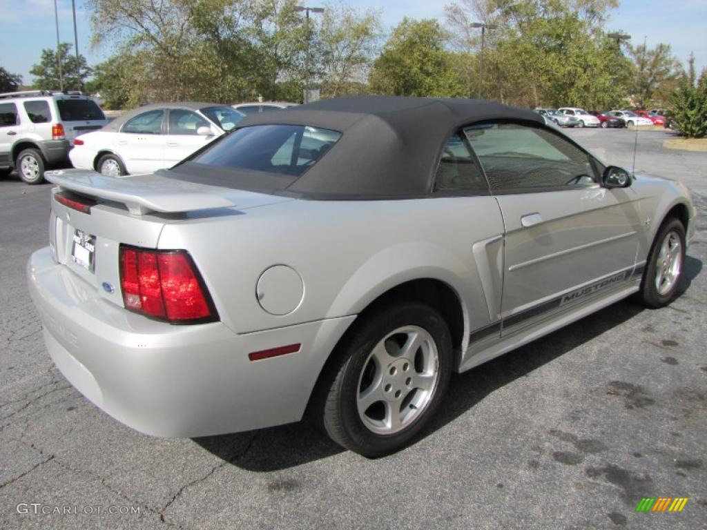
[[[303,125],[243,127],[191,162],[299,177],[329,151],[341,133]]]

